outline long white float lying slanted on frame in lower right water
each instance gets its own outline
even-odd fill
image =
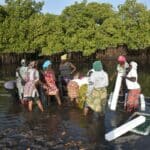
[[[144,116],[138,116],[137,118],[121,125],[120,127],[108,132],[105,134],[105,139],[107,141],[112,141],[119,136],[127,133],[128,131],[134,129],[135,127],[139,126],[140,124],[143,124],[145,122],[146,118]]]

